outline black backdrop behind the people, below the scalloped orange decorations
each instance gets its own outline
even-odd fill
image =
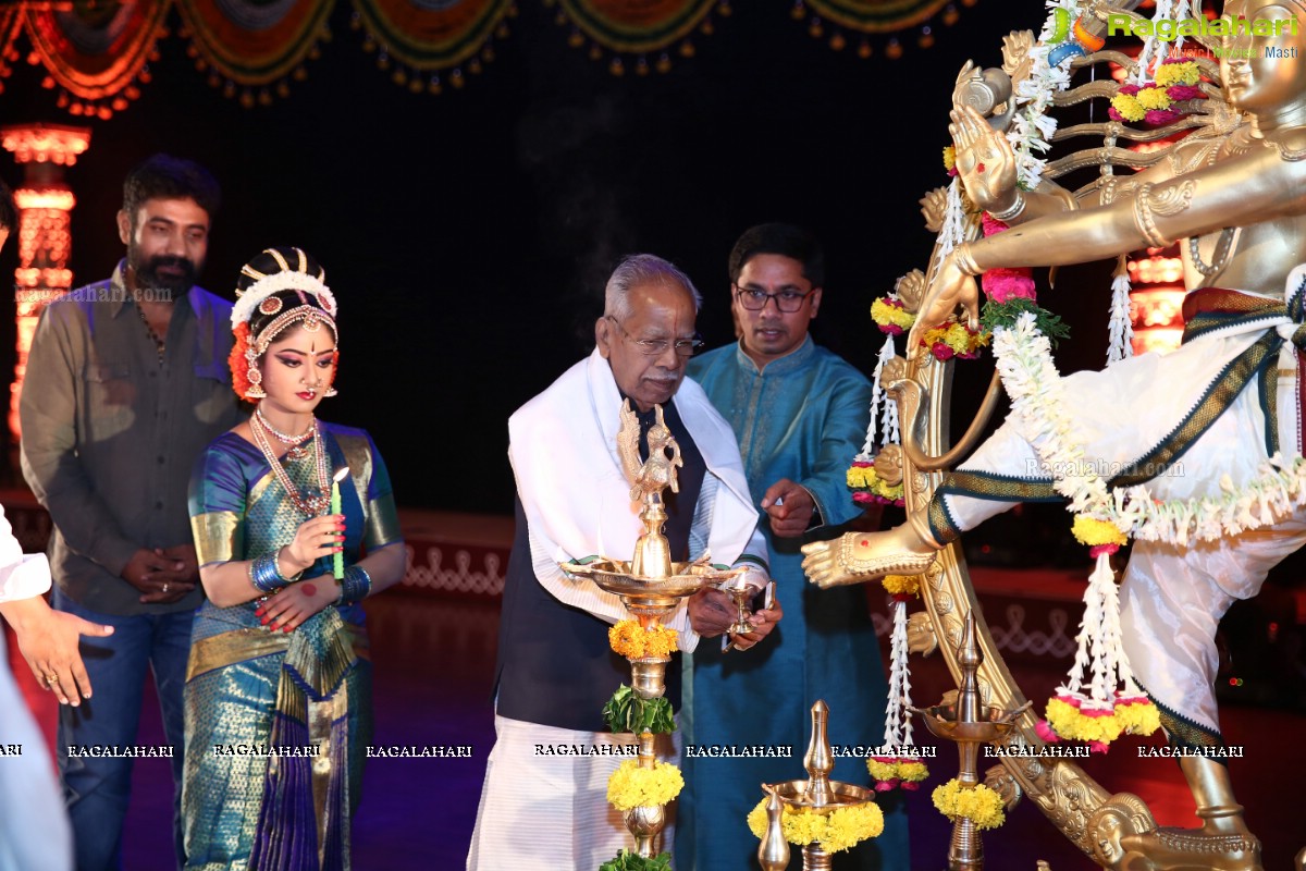
[[[341,396],[323,417],[374,434],[401,504],[507,512],[507,418],[593,346],[603,279],[623,253],[684,268],[716,346],[731,338],[735,236],[803,223],[829,261],[814,333],[870,372],[883,338],[870,303],[923,266],[932,243],[917,200],[947,182],[956,72],[966,57],[999,64],[1002,35],[1037,30],[1045,14],[1041,0],[982,3],[936,26],[930,50],[863,60],[810,38],[788,3],[750,0],[695,38],[695,57],[673,52],[669,73],[614,77],[568,47],[542,4],[521,5],[498,59],[438,97],[393,85],[343,3],[308,80],[270,107],[223,98],[185,42],[166,38],[141,98],[90,123],[90,150],[68,172],[76,281],[103,278],[121,256],[114,213],[133,163],[155,150],[199,159],[226,195],[202,283],[230,298],[261,248],[315,253],[342,312]],[[16,69],[3,123],[78,123],[42,74]],[[10,249],[0,269],[13,265]],[[1092,312],[1067,368],[1102,359],[1109,279],[1094,274],[1092,294],[1058,293],[1072,323],[1077,307]],[[9,371],[13,328],[0,323]],[[960,392],[987,367],[959,367]]]

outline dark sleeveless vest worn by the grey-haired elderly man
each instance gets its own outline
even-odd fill
[[[707,464],[699,453],[675,402],[663,407],[663,419],[680,445],[684,466],[679,469],[680,492],[663,492],[667,521],[663,534],[671,543],[671,559],[690,559],[690,526],[703,490]],[[645,434],[653,413],[640,414],[640,453],[648,458]],[[597,458],[606,462],[606,457]],[[629,684],[631,665],[613,653],[607,642],[610,623],[589,611],[563,605],[535,578],[526,537],[521,499],[516,503],[517,530],[508,558],[499,620],[499,661],[495,666],[498,712],[509,720],[573,729],[606,731],[603,705],[619,684]],[[589,554],[572,554],[575,558]],[[632,554],[602,554],[631,559]],[[666,697],[680,706],[680,666],[666,669]]]

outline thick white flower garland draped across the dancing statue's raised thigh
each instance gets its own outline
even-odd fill
[[[993,350],[1012,419],[1043,467],[1053,470],[1053,488],[1070,500],[1071,513],[1105,520],[1139,541],[1186,547],[1268,526],[1306,505],[1306,457],[1288,460],[1280,453],[1242,488],[1228,475],[1221,478],[1217,496],[1158,501],[1145,484],[1110,490],[1071,437],[1075,424],[1066,413],[1060,373],[1034,316],[1027,312],[1013,328],[994,329]]]

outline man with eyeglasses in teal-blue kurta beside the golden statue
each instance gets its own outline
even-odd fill
[[[832,743],[875,747],[884,733],[885,679],[866,598],[812,595],[798,550],[841,534],[861,513],[846,470],[866,436],[871,384],[808,336],[825,272],[815,236],[785,223],[752,227],[735,243],[729,268],[739,341],[691,360],[690,376],[739,439],[776,599],[790,616],[754,656],[701,644],[686,657],[692,689],[687,675],[684,743],[794,750],[790,759],[684,760],[680,871],[757,867],[757,840],[742,820],[760,798],[757,784],[802,774],[808,710],[818,699],[831,706]],[[852,768],[842,776],[866,781],[865,769],[859,778]],[[840,867],[908,867],[906,817],[895,800],[880,800],[884,833],[840,855]]]

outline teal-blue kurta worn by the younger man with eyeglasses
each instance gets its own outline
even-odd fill
[[[722,656],[714,639],[684,657],[684,744],[785,746],[785,757],[686,757],[677,815],[679,871],[757,868],[757,838],[746,817],[761,784],[806,777],[803,753],[811,705],[824,699],[833,744],[876,747],[884,736],[885,676],[862,586],[820,590],[807,584],[799,546],[835,538],[861,509],[846,487],[848,465],[861,449],[871,384],[808,337],[764,370],[739,345],[690,362],[739,439],[748,490],[759,504],[789,478],[816,500],[825,525],[801,538],[776,538],[763,517],[771,573],[785,618],[755,649]],[[688,674],[692,670],[692,678]],[[859,757],[836,760],[833,777],[868,785]],[[840,854],[840,868],[906,868],[908,832],[901,799],[879,798],[884,833]]]

